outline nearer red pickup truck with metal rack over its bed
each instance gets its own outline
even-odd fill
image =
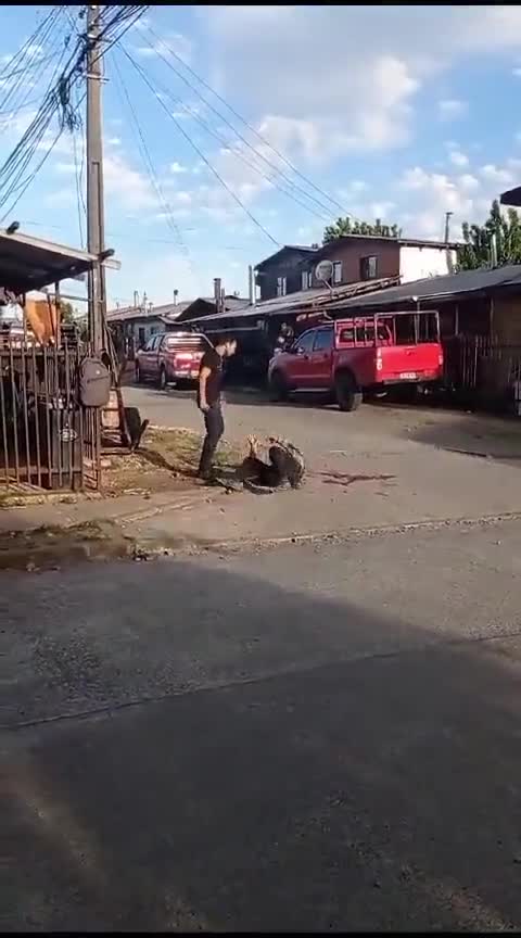
[[[328,391],[341,410],[356,410],[363,392],[440,381],[443,350],[437,313],[353,317],[303,332],[268,368],[275,400],[292,391]]]

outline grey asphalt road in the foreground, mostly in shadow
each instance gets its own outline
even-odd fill
[[[0,927],[519,928],[520,534],[2,574]]]

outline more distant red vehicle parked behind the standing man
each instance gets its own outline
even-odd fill
[[[201,358],[211,347],[199,332],[158,332],[136,353],[136,381],[152,381],[164,390],[195,384]]]

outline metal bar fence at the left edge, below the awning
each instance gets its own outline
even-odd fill
[[[0,338],[0,485],[98,489],[98,408],[79,401],[80,343]]]

